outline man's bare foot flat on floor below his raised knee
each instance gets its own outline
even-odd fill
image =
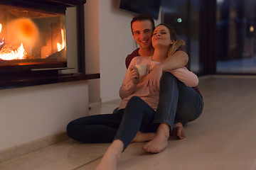
[[[147,142],[142,149],[151,153],[159,153],[163,151],[168,146],[167,140],[169,139],[169,130],[169,125],[161,123],[154,139]]]

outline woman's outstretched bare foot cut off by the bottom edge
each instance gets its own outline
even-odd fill
[[[117,160],[119,159],[123,148],[124,144],[121,140],[114,140],[107,149],[107,152],[105,152],[96,170],[117,170]]]

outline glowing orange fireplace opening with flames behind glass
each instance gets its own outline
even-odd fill
[[[0,4],[0,72],[67,67],[65,13]]]

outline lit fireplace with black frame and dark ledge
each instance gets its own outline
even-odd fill
[[[76,6],[78,19],[81,19],[85,1],[0,0],[0,88],[100,77],[99,74],[88,77],[81,69],[78,74],[63,75],[59,72],[69,69],[66,8]],[[82,35],[78,35],[78,42],[84,41],[82,23],[78,22],[78,34]],[[78,47],[78,61],[83,62],[84,47]]]

